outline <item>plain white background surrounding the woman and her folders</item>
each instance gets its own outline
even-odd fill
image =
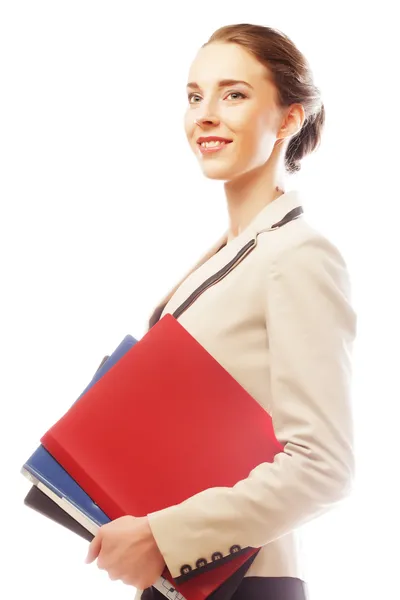
[[[346,256],[359,315],[357,482],[304,529],[310,598],[400,597],[395,3],[0,6],[0,597],[133,597],[84,565],[86,542],[24,507],[19,470],[226,229],[222,183],[202,177],[183,112],[190,61],[235,22],[281,29],[312,65],[324,141],[286,187]]]

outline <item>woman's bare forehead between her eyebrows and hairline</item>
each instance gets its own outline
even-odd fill
[[[200,86],[220,79],[238,79],[251,85],[267,81],[268,69],[238,44],[213,42],[200,48],[189,69],[189,81]]]

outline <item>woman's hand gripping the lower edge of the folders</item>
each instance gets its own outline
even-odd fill
[[[140,590],[153,585],[165,568],[147,517],[121,517],[100,527],[86,562],[96,558],[97,566],[107,571],[110,579]]]

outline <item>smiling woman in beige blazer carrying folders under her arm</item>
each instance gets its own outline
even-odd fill
[[[179,582],[216,554],[261,548],[224,598],[304,600],[298,528],[346,497],[354,475],[348,271],[285,192],[319,144],[324,106],[290,39],[255,25],[216,31],[187,91],[187,138],[204,175],[225,182],[230,227],[150,326],[173,313],[271,414],[284,452],[233,488],[104,526],[88,561],[148,600],[163,598],[151,586],[165,564]]]

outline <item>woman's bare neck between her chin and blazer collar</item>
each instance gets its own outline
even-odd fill
[[[228,240],[240,235],[267,204],[285,193],[281,173],[283,169],[278,169],[278,164],[272,167],[270,159],[265,165],[225,182],[230,222]]]

